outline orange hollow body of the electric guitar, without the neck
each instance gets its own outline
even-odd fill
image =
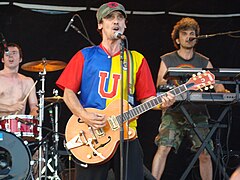
[[[124,112],[128,110],[128,107],[131,108],[126,101],[124,101],[123,104]],[[78,160],[88,164],[98,164],[108,161],[114,155],[120,142],[120,127],[113,129],[109,124],[109,119],[112,116],[118,116],[121,114],[120,105],[121,101],[115,100],[110,103],[109,106],[107,106],[107,108],[104,110],[86,108],[86,110],[89,112],[105,114],[107,118],[107,125],[101,129],[101,133],[98,133],[97,130],[93,130],[87,124],[81,122],[78,117],[74,115],[71,116],[66,126],[65,136],[67,142],[74,139],[74,137],[79,136],[75,141],[79,142],[80,140],[82,142],[82,145],[69,149]],[[135,130],[128,127],[127,123],[124,123],[123,127],[124,139],[133,140],[136,138]],[[102,134],[102,132],[104,134]],[[94,140],[94,138],[96,139]],[[104,158],[94,153],[90,145],[87,144],[91,139],[91,143],[94,149],[96,149],[96,151],[100,153]]]

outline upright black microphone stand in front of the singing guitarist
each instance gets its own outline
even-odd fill
[[[124,177],[124,127],[123,127],[123,65],[124,65],[124,40],[120,43],[120,64],[121,64],[121,123],[120,123],[120,180]]]

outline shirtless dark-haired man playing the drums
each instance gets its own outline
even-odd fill
[[[38,116],[38,100],[34,81],[18,73],[22,58],[22,49],[14,43],[8,44],[8,52],[4,51],[1,57],[4,67],[0,70],[0,120],[9,115],[24,115],[27,102],[29,115]],[[32,158],[37,160],[38,151]],[[38,174],[35,166],[36,164],[33,167],[34,177]]]

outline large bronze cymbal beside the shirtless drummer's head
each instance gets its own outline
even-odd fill
[[[32,61],[25,63],[21,66],[21,68],[25,71],[31,71],[31,72],[42,72],[45,70],[47,72],[51,71],[57,71],[65,68],[67,63],[63,61],[57,61],[57,60],[40,60],[40,61]]]

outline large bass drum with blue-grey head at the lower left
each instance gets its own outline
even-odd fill
[[[31,156],[23,140],[0,130],[0,179],[27,180],[31,172]]]

